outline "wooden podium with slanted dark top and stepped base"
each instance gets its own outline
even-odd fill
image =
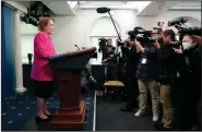
[[[59,86],[59,108],[52,120],[54,130],[83,130],[85,101],[81,101],[82,70],[96,48],[62,53],[49,59]]]

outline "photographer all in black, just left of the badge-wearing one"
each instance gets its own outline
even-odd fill
[[[126,58],[124,76],[126,76],[126,94],[127,103],[121,107],[121,111],[132,111],[138,108],[136,98],[139,96],[138,79],[135,77],[136,67],[140,59],[140,50],[131,45],[129,40],[124,40],[121,47],[123,58]]]

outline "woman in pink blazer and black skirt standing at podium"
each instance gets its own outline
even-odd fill
[[[41,19],[39,32],[34,38],[34,62],[31,77],[34,80],[34,95],[37,97],[37,121],[48,121],[52,115],[47,110],[47,99],[54,94],[54,73],[48,58],[56,56],[50,35],[54,32],[55,21],[50,17]]]

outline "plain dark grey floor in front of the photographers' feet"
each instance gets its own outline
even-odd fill
[[[140,118],[134,112],[122,112],[121,100],[104,101],[97,97],[96,131],[154,131],[152,115]]]

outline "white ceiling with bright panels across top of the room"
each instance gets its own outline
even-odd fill
[[[201,1],[57,1],[41,0],[57,15],[75,15],[78,9],[95,10],[107,7],[116,10],[136,10],[138,15],[156,16],[168,10],[201,11]],[[28,1],[19,1],[27,7]]]

